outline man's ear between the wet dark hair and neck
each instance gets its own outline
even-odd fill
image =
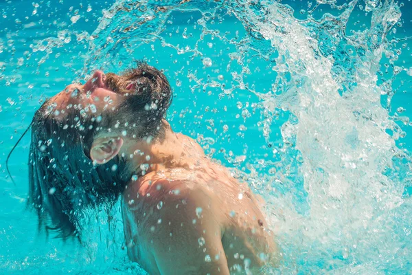
[[[105,164],[119,153],[122,145],[122,137],[99,137],[91,144],[91,160],[97,164]]]

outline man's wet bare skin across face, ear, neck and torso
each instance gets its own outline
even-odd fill
[[[69,85],[51,102],[57,118],[64,118],[74,104],[94,105],[99,115],[107,108],[115,110],[122,100],[127,97],[108,89],[98,71],[84,85]],[[130,179],[123,194],[131,261],[149,274],[260,274],[260,267],[277,264],[275,236],[258,200],[247,184],[208,159],[190,137],[170,127],[161,143],[97,137],[90,155],[101,164],[136,150],[142,154],[130,163],[145,163],[148,169]]]

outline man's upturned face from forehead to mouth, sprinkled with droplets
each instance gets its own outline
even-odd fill
[[[96,71],[85,83],[72,84],[49,100],[49,106],[57,119],[65,118],[72,109],[83,110],[94,116],[101,115],[104,111],[116,109],[124,101],[128,91],[135,88],[134,83],[122,83],[124,87],[113,87],[110,83],[115,74],[106,76],[102,71]]]

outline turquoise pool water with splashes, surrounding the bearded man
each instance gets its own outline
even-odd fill
[[[409,274],[411,8],[1,2],[1,273],[144,274],[122,249],[117,208],[87,212],[82,244],[38,234],[25,210],[28,136],[10,158],[16,186],[5,158],[45,98],[145,59],[174,89],[174,131],[266,200],[284,254],[274,274]]]

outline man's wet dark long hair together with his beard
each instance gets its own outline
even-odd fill
[[[107,75],[106,75],[107,76]],[[165,76],[146,63],[121,76],[108,74],[113,91],[135,81],[136,89],[115,111],[96,118],[81,109],[69,109],[56,119],[53,104],[45,102],[32,121],[29,155],[28,205],[38,214],[39,229],[56,230],[58,236],[78,236],[82,209],[115,203],[136,171],[126,158],[116,156],[106,164],[95,165],[89,158],[93,137],[111,131],[128,131],[137,139],[161,138],[162,119],[170,106],[172,93]],[[156,105],[156,107],[155,107]],[[118,124],[120,126],[113,127]]]

